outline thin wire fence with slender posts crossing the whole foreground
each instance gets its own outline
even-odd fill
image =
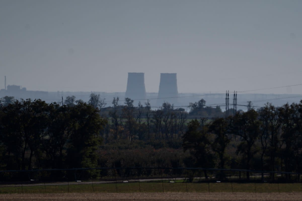
[[[300,173],[281,171],[149,167],[0,171],[0,193],[297,191],[302,191]]]

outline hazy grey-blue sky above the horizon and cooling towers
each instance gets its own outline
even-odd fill
[[[0,88],[179,92],[302,83],[302,1],[0,0]],[[3,84],[2,84],[3,83]],[[302,86],[257,93],[302,93]]]

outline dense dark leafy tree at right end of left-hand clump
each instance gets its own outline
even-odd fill
[[[106,122],[92,105],[79,103],[70,110],[72,122],[67,150],[69,168],[96,167],[96,151],[102,142],[100,131]]]

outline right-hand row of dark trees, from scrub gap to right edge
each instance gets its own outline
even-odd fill
[[[301,172],[301,139],[302,101],[281,107],[267,103],[257,111],[250,108],[208,124],[192,120],[182,146],[199,167],[213,168],[216,162],[221,169],[227,163],[235,169]],[[274,179],[274,174],[271,177]]]

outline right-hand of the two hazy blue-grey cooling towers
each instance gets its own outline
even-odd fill
[[[161,73],[158,102],[175,103],[177,102],[175,97],[178,97],[176,73]]]

